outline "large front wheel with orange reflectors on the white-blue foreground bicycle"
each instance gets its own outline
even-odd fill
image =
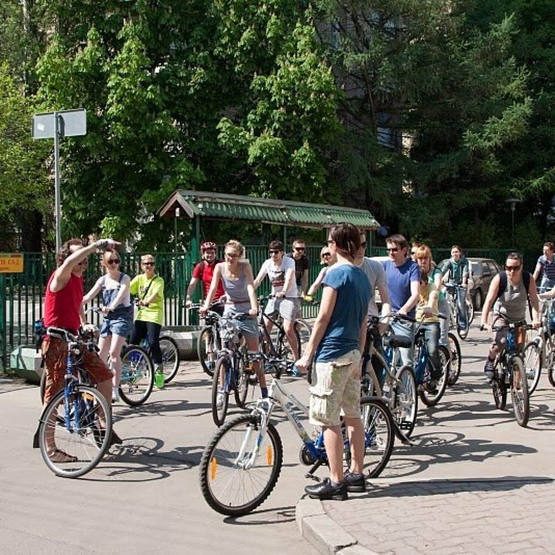
[[[221,427],[200,459],[200,490],[214,511],[241,516],[254,511],[273,490],[282,469],[283,450],[271,422],[241,415]]]

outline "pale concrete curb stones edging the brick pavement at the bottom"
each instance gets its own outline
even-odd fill
[[[295,509],[295,519],[302,538],[318,553],[330,555],[376,555],[358,545],[357,540],[332,520],[319,499],[301,498]]]

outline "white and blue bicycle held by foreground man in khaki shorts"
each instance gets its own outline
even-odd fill
[[[264,355],[259,355],[264,357]],[[246,515],[270,495],[280,476],[283,463],[282,441],[272,420],[275,407],[281,407],[302,441],[301,462],[311,466],[306,477],[327,463],[323,432],[315,438],[302,425],[300,416],[308,409],[293,393],[280,384],[286,364],[269,359],[274,375],[268,397],[257,400],[253,411],[230,420],[210,439],[200,461],[200,490],[214,511],[228,516]],[[386,467],[395,436],[395,422],[381,400],[361,400],[364,425],[364,474],[379,476]],[[350,449],[344,438],[345,451]],[[347,457],[347,464],[350,463]]]

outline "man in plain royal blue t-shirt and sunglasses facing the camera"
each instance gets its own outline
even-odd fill
[[[407,314],[414,318],[416,303],[418,302],[418,283],[420,270],[418,264],[407,259],[409,244],[400,234],[391,235],[386,239],[389,259],[384,264],[386,271],[387,290],[391,310],[400,314]],[[391,324],[397,335],[414,339],[413,325],[407,321],[397,321]],[[413,364],[413,348],[400,349],[403,364]]]

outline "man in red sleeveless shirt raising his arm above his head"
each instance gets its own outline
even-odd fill
[[[112,239],[101,239],[89,246],[83,246],[80,239],[70,239],[62,245],[58,253],[58,268],[52,273],[44,295],[44,326],[62,327],[72,334],[77,334],[81,325],[85,325],[85,311],[81,305],[83,300],[83,274],[87,270],[88,256],[96,248],[115,248],[119,243]],[[46,372],[46,388],[44,389],[44,407],[58,391],[64,387],[67,368],[67,343],[57,337],[46,336],[42,341],[42,356]],[[112,372],[96,352],[83,352],[83,366],[100,393],[111,406]],[[53,438],[52,438],[53,440]],[[121,439],[112,429],[111,445],[121,443]],[[68,457],[65,452],[58,451],[56,445],[46,446],[56,452],[64,462]]]

